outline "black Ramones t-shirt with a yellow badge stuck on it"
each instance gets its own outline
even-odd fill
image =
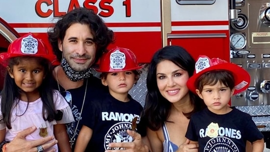
[[[263,134],[251,116],[238,109],[217,115],[205,108],[191,116],[186,137],[199,142],[199,152],[245,152],[246,141],[260,140]]]

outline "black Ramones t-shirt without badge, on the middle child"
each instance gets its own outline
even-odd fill
[[[129,98],[129,102],[122,102],[106,93],[85,107],[81,121],[93,130],[85,152],[104,152],[109,143],[133,141],[126,129],[131,129],[135,117],[139,122],[142,106],[130,95]]]

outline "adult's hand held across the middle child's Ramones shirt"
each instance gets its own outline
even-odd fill
[[[110,143],[110,148],[124,148],[125,150],[107,150],[105,152],[149,152],[146,145],[142,143],[140,134],[132,130],[127,130],[128,134],[134,138],[130,143]]]

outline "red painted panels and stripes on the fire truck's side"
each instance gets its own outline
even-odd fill
[[[228,21],[192,21],[192,22],[172,22],[172,26],[228,26]],[[48,28],[53,24],[48,23],[12,23],[12,28]],[[121,28],[121,27],[161,27],[159,22],[149,23],[107,23],[109,28]],[[186,48],[194,59],[199,55],[207,55],[210,58],[221,58],[223,60],[230,60],[230,46],[229,46],[229,30],[183,30],[172,31],[172,34],[180,33],[225,33],[225,38],[181,38],[181,39],[169,39],[172,45],[180,45]],[[20,33],[21,35],[25,33]],[[47,33],[40,32],[34,33],[36,36],[45,41],[48,47],[51,49],[48,42]],[[153,54],[162,48],[162,36],[161,31],[127,31],[127,32],[115,32],[115,42],[109,45],[108,49],[115,46],[131,49],[140,63],[148,63]],[[169,44],[169,43],[168,43]]]

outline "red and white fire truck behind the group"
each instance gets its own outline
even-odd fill
[[[162,46],[180,45],[194,59],[207,55],[246,69],[251,84],[231,105],[270,137],[270,0],[2,0],[0,52],[29,31],[48,43],[57,17],[80,6],[93,9],[115,32],[110,48],[129,48],[140,63],[149,63]],[[147,66],[130,92],[142,105],[146,74]],[[2,87],[2,72],[0,77]]]

